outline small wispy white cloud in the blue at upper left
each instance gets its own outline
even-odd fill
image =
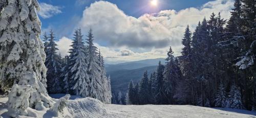
[[[56,15],[59,13],[61,13],[59,6],[53,6],[53,5],[46,4],[46,3],[40,3],[40,11],[38,12],[38,14],[42,18],[50,18],[53,15]]]

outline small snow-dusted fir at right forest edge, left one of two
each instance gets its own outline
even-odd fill
[[[217,99],[215,100],[216,107],[225,107],[227,100],[227,93],[225,91],[225,86],[223,83],[220,83],[219,90],[217,93]]]

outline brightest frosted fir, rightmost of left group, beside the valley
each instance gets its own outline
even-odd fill
[[[110,81],[105,76],[102,56],[99,56],[97,47],[93,44],[92,29],[87,35],[87,74],[89,77],[89,97],[98,99],[103,103],[111,103]],[[99,59],[99,57],[101,59]]]

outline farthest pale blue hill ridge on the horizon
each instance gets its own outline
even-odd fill
[[[138,68],[147,67],[147,66],[154,66],[154,65],[158,65],[159,61],[161,61],[162,63],[166,62],[164,58],[146,59],[146,60],[125,62],[125,63],[119,63],[119,64],[106,64],[105,68],[106,68],[106,72],[110,73],[110,72],[122,70],[122,69],[132,70],[132,69],[138,69]]]

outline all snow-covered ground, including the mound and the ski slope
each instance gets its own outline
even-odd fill
[[[64,95],[51,95],[59,98]],[[227,108],[206,108],[190,105],[105,105],[92,98],[81,99],[78,96],[71,96],[65,114],[59,117],[254,117],[256,112],[227,109]],[[0,114],[7,117],[7,98],[0,99]],[[31,109],[33,110],[33,109]],[[40,117],[53,117],[49,109],[35,111]],[[20,116],[25,117],[25,116]]]

